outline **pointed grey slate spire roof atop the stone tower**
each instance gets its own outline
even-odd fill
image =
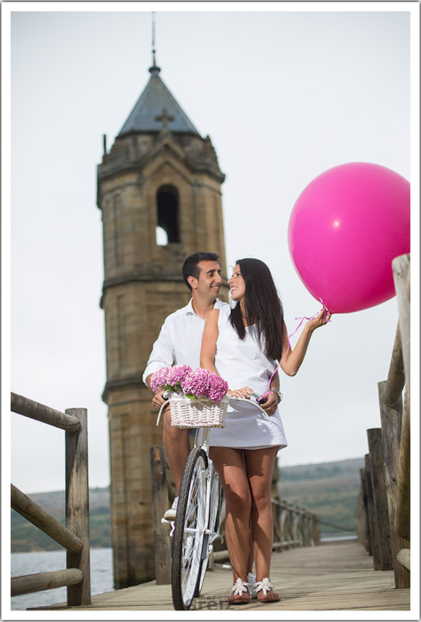
[[[169,121],[169,131],[200,136],[180,104],[176,102],[167,86],[162,82],[159,75],[160,68],[154,63],[149,72],[151,73],[149,82],[122,126],[118,138],[131,132],[159,132],[162,129],[162,120],[157,117],[162,116],[162,111],[165,111],[167,119],[174,117]]]

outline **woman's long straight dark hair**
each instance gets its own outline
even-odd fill
[[[268,266],[260,259],[238,259],[245,282],[244,310],[248,326],[256,323],[259,345],[268,359],[280,359],[283,346],[283,307]],[[244,339],[245,326],[238,303],[230,321],[238,337]],[[263,337],[263,340],[262,340]]]

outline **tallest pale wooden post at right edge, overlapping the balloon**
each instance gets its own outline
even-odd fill
[[[404,360],[406,396],[402,415],[402,433],[400,439],[399,473],[397,479],[397,501],[395,529],[399,536],[409,540],[409,475],[410,475],[410,391],[411,391],[411,262],[410,256],[400,255],[393,259],[393,280],[395,282],[397,307],[399,309],[399,328]]]

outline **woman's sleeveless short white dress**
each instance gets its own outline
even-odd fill
[[[277,364],[265,356],[254,338],[254,326],[245,328],[241,340],[230,322],[230,308],[220,310],[218,318],[219,335],[216,341],[215,367],[218,374],[227,380],[230,389],[250,386],[263,395],[268,390],[268,381]],[[265,447],[287,446],[279,408],[270,420],[249,402],[230,402],[227,408],[225,428],[212,428],[210,446],[236,449],[263,449]],[[282,402],[281,402],[282,404]]]

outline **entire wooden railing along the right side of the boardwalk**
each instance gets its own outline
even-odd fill
[[[404,588],[410,583],[410,256],[395,258],[392,267],[399,323],[388,377],[377,384],[382,428],[367,430],[356,516],[374,568],[393,569],[395,587]]]

